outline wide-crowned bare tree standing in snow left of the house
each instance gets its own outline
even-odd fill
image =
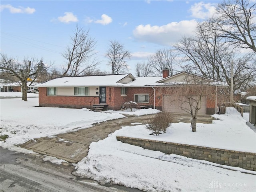
[[[19,62],[14,58],[8,58],[5,54],[1,54],[0,70],[20,80],[22,100],[27,101],[27,80],[34,76],[34,79],[30,82],[31,85],[42,68],[34,58],[32,60],[25,58],[22,62]]]

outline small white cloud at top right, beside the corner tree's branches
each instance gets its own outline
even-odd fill
[[[192,17],[199,18],[199,19],[206,19],[211,17],[216,9],[216,4],[212,3],[194,3],[194,5],[191,6],[190,12],[192,13]]]

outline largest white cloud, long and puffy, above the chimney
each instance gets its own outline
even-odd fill
[[[139,25],[134,29],[133,35],[138,41],[170,45],[184,35],[193,34],[196,25],[196,20],[171,22],[163,26]]]

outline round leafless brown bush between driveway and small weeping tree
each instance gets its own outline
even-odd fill
[[[162,112],[152,115],[145,126],[147,129],[152,130],[154,134],[159,135],[159,133],[166,132],[166,128],[170,126],[173,122],[174,115],[172,113]]]

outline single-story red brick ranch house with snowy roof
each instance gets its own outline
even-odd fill
[[[167,84],[181,82],[190,74],[181,72],[169,76],[164,70],[162,77],[134,77],[132,74],[70,76],[48,80],[38,84],[39,106],[64,108],[92,108],[103,105],[104,109],[119,110],[124,102],[134,101],[146,108],[156,108],[164,112],[184,113],[180,107],[170,102],[170,88]],[[192,76],[192,75],[191,75]],[[215,80],[207,79],[215,84]],[[198,114],[215,114],[217,101],[202,99]]]

